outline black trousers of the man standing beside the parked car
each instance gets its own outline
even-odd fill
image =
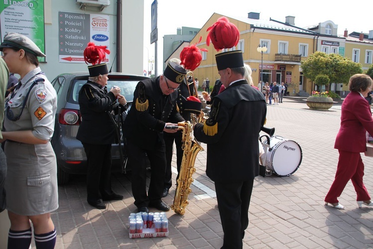
[[[112,190],[112,145],[82,143],[87,154],[87,201],[96,203]]]

